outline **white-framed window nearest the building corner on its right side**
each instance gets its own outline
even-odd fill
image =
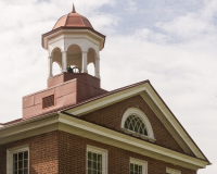
[[[107,174],[107,150],[87,146],[87,174]]]

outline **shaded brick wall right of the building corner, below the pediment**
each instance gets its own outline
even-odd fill
[[[149,174],[165,174],[166,166],[179,170],[182,174],[196,174],[196,171],[193,170],[173,165],[64,132],[60,132],[60,174],[86,173],[87,145],[108,150],[108,174],[129,174],[130,157],[146,161]]]

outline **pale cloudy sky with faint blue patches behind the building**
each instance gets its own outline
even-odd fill
[[[217,171],[216,0],[0,0],[0,123],[22,117],[22,97],[47,88],[41,35],[72,11],[106,35],[101,85],[150,79]]]

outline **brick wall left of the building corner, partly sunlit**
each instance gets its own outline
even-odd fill
[[[47,133],[0,146],[0,174],[7,173],[7,149],[29,145],[29,173],[58,174],[58,132]]]

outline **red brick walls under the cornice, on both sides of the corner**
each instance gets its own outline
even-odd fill
[[[7,173],[7,149],[26,144],[29,145],[30,174],[86,174],[87,145],[108,150],[108,174],[128,174],[130,157],[146,161],[149,174],[165,174],[166,166],[183,174],[196,174],[196,171],[59,130],[1,145],[1,174]]]

